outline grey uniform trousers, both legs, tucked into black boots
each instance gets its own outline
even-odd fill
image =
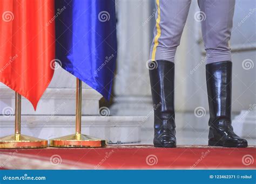
[[[191,0],[156,0],[156,26],[151,60],[174,62]],[[230,37],[235,0],[198,0],[207,63],[231,61]],[[194,34],[193,31],[191,34]]]

